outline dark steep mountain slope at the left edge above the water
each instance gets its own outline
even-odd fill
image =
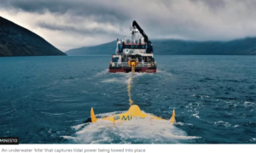
[[[0,56],[66,55],[44,38],[0,16]]]

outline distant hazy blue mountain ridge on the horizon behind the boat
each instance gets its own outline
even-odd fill
[[[256,37],[232,41],[184,41],[176,39],[152,40],[154,54],[255,55]],[[97,46],[73,48],[66,54],[115,54],[116,41]]]

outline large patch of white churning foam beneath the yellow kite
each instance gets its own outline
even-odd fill
[[[117,113],[120,112],[98,116],[111,116]],[[187,136],[170,121],[150,120],[150,114],[143,119],[134,117],[131,121],[115,122],[115,125],[113,122],[98,119],[97,122],[82,126],[80,124],[74,127],[79,130],[75,133],[73,141],[79,144],[180,144],[186,143],[188,139],[199,138]]]

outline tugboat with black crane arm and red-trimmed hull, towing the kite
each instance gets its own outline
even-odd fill
[[[132,22],[130,30],[129,39],[126,39],[126,36],[123,39],[117,39],[115,54],[112,55],[108,67],[109,72],[155,73],[157,65],[154,61],[152,42],[136,20]],[[142,36],[136,36],[137,32],[140,32]]]

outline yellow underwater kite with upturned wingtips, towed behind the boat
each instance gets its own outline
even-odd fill
[[[150,117],[151,120],[165,120],[163,118],[160,118],[158,116],[154,116],[152,114],[146,114],[143,111],[141,111],[140,107],[138,105],[131,105],[128,111],[121,114],[116,114],[113,116],[107,116],[104,118],[101,118],[102,120],[107,120],[109,122],[113,122],[113,125],[115,125],[116,122],[122,123],[122,122],[128,122],[131,120],[136,119],[144,119],[146,117]],[[94,114],[93,108],[90,110],[90,122],[97,122],[99,119],[96,118]],[[169,120],[171,123],[175,123],[175,111],[172,111],[172,117]]]

